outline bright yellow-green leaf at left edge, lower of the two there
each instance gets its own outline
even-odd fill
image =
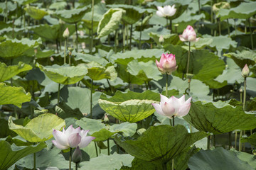
[[[22,87],[6,86],[0,83],[0,105],[13,104],[21,108],[22,103],[31,101],[31,94]]]

